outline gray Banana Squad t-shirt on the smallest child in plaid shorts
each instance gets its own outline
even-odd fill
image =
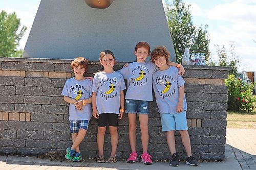
[[[91,98],[92,96],[92,81],[86,80],[75,80],[70,78],[66,81],[61,95],[68,96],[69,98],[76,100],[83,100]],[[87,103],[82,106],[82,110],[78,110],[75,104],[69,105],[69,120],[90,120],[92,117],[92,105]]]

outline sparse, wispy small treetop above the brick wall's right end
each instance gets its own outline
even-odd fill
[[[228,50],[225,44],[222,44],[222,45],[215,44],[215,47],[218,55],[217,61],[209,59],[207,61],[207,65],[231,67],[231,71],[229,71],[229,74],[237,76],[240,57],[236,54],[236,51],[234,49],[234,43],[229,42]]]

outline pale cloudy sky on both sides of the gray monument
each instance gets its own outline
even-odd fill
[[[57,1],[57,0],[55,0]],[[120,1],[120,0],[119,0]],[[164,1],[164,0],[162,0]],[[172,1],[172,0],[169,0]],[[236,54],[240,57],[239,70],[256,71],[256,0],[184,0],[190,4],[194,24],[208,25],[210,35],[209,50],[216,58],[215,44],[234,42]],[[16,12],[22,25],[28,27],[26,35],[20,41],[25,47],[40,0],[0,1],[0,10]]]

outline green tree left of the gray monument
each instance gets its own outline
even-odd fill
[[[22,57],[22,50],[18,50],[20,39],[27,30],[26,26],[20,29],[20,19],[15,12],[7,14],[5,11],[0,13],[0,56]]]

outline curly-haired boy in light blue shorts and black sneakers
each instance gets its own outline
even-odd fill
[[[166,132],[167,144],[172,154],[170,166],[178,166],[179,163],[179,156],[175,149],[175,130],[180,132],[186,150],[186,164],[198,166],[198,162],[191,154],[190,138],[187,132],[185,81],[179,75],[177,67],[167,65],[169,57],[170,54],[164,46],[156,47],[151,53],[151,61],[158,67],[153,74],[153,88],[161,116],[162,131]]]

